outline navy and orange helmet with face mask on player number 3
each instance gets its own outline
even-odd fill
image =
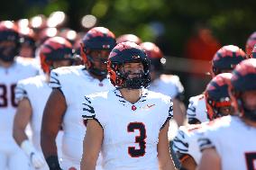
[[[130,67],[135,65],[137,70],[125,69],[129,63]],[[123,42],[115,46],[110,53],[107,69],[111,83],[117,88],[140,89],[150,85],[150,60],[134,42]]]

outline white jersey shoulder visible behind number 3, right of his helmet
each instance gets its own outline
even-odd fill
[[[158,79],[151,82],[149,90],[169,95],[171,98],[184,93],[184,87],[181,85],[179,77],[174,75],[161,75]]]

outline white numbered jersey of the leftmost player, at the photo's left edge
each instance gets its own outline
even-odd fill
[[[10,139],[14,142],[13,122],[17,107],[14,89],[17,82],[38,73],[39,68],[32,58],[17,57],[11,67],[0,67],[0,141]]]

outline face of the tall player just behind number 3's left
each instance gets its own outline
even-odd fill
[[[106,70],[106,61],[109,53],[109,50],[92,50],[90,57],[93,59],[94,67],[99,70]]]

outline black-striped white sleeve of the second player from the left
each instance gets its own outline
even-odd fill
[[[15,101],[18,103],[22,101],[24,98],[28,98],[27,84],[25,80],[21,80],[15,87]]]

